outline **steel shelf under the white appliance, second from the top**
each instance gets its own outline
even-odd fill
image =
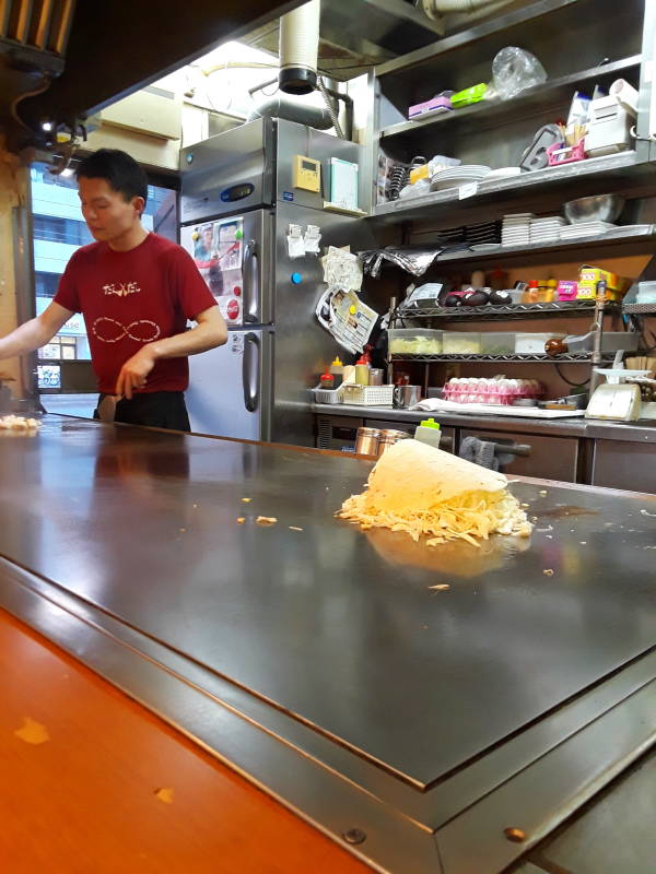
[[[497,202],[500,197],[527,196],[534,189],[562,187],[570,182],[591,179],[595,176],[604,176],[605,181],[612,178],[624,178],[639,176],[641,172],[652,173],[653,167],[648,162],[641,162],[635,152],[620,152],[617,155],[605,155],[604,157],[590,157],[585,161],[577,161],[574,164],[566,164],[560,167],[546,167],[541,170],[523,173],[522,176],[505,178],[482,179],[478,184],[476,194],[467,199],[466,205],[477,206],[485,201]],[[374,208],[374,218],[385,218],[391,222],[407,222],[413,218],[425,218],[427,214],[438,211],[441,208],[453,206],[454,204],[465,204],[460,201],[459,188],[447,188],[443,191],[431,191],[429,194],[412,198],[410,200],[394,200],[389,203],[379,203]],[[579,244],[581,240],[575,240]],[[508,247],[509,248],[509,247]]]

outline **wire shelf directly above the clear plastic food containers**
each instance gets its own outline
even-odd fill
[[[653,305],[656,309],[656,305]],[[506,321],[508,319],[546,318],[551,316],[585,316],[595,311],[594,300],[553,302],[550,304],[507,304],[483,307],[426,307],[425,309],[397,309],[396,319],[445,319],[448,321]],[[604,304],[608,314],[621,312],[614,300]]]

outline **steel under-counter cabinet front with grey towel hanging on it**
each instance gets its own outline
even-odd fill
[[[520,452],[514,454],[503,473],[538,476],[544,480],[576,482],[578,466],[578,440],[575,437],[542,437],[535,434],[509,432],[460,430],[460,442],[465,437],[490,440]]]

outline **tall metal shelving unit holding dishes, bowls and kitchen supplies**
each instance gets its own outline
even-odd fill
[[[639,91],[639,117],[634,149],[601,157],[513,177],[484,178],[476,185],[431,191],[418,198],[372,206],[372,226],[385,226],[389,245],[396,234],[399,245],[430,247],[440,233],[455,225],[470,225],[501,218],[504,214],[528,211],[536,214],[560,212],[563,201],[597,193],[619,192],[631,198],[656,196],[656,102],[652,96],[652,69],[656,62],[656,5],[647,0],[535,0],[497,11],[472,26],[449,34],[432,46],[412,51],[376,68],[370,79],[372,113],[370,135],[373,143],[372,182],[375,190],[378,153],[397,162],[413,155],[444,154],[464,164],[482,164],[493,169],[517,166],[535,132],[546,123],[566,117],[576,90],[588,94],[595,84],[606,88],[616,79],[625,79]],[[491,81],[492,61],[505,46],[519,46],[532,52],[544,66],[548,80],[515,97],[490,99],[455,109],[433,118],[407,120],[408,107],[436,93],[461,90],[477,82]],[[628,211],[629,212],[629,211]],[[445,251],[432,269],[460,272],[462,267],[512,262],[513,267],[549,263],[549,256],[597,263],[602,257],[649,252],[656,226],[653,211],[644,229],[619,226],[604,237],[578,237],[539,245],[496,246],[484,250]],[[631,221],[631,216],[624,221]],[[649,224],[647,224],[649,223]],[[591,260],[595,259],[595,260]],[[394,273],[390,271],[390,279]],[[399,276],[402,274],[398,274]],[[399,293],[403,280],[399,280]],[[604,316],[656,314],[656,305],[622,307],[594,300],[572,303],[423,308],[396,310],[390,327],[407,327],[431,321],[484,322],[531,320],[554,317],[588,317],[595,330],[604,330]],[[417,321],[415,321],[417,320]],[[477,326],[478,328],[479,326]],[[522,330],[522,329],[519,329]],[[537,328],[537,330],[540,330]],[[610,363],[612,355],[593,352],[571,355],[391,355],[396,363],[425,365],[447,363]]]

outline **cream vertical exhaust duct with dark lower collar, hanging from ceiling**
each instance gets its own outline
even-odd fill
[[[280,19],[280,73],[285,94],[309,94],[317,87],[320,0],[309,0]]]

